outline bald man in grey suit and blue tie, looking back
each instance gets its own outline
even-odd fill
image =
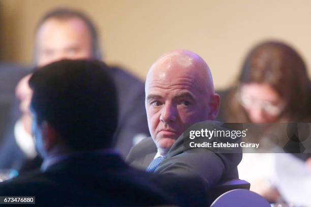
[[[158,174],[199,175],[209,187],[238,178],[241,154],[183,149],[186,126],[214,120],[219,111],[220,97],[199,55],[177,50],[160,57],[148,72],[145,97],[151,137],[131,149],[128,163]]]

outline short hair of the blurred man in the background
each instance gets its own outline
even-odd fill
[[[91,42],[92,42],[92,58],[101,60],[102,59],[102,51],[100,48],[100,43],[98,39],[98,32],[96,29],[95,24],[90,20],[89,17],[87,17],[84,13],[69,9],[69,8],[56,8],[54,10],[49,11],[48,13],[43,16],[43,18],[40,20],[36,33],[38,32],[38,29],[42,26],[42,24],[45,23],[46,20],[55,18],[59,20],[68,20],[72,18],[78,18],[81,19],[85,25],[87,26],[90,36],[91,36]],[[35,47],[35,50],[37,47]],[[35,51],[35,61],[37,59],[37,52]]]

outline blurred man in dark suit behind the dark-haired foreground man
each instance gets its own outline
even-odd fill
[[[43,17],[36,31],[34,54],[35,64],[38,66],[63,58],[102,58],[95,25],[83,13],[70,9],[56,9]],[[148,134],[144,110],[144,86],[138,79],[118,67],[111,67],[110,73],[116,83],[119,107],[119,122],[113,145],[125,157],[135,141]],[[9,130],[13,131],[14,128],[19,130],[15,130],[5,138],[6,143],[0,149],[0,168],[19,169],[25,160],[33,159],[36,153],[34,144],[29,144],[26,141],[29,139],[24,139],[30,137],[31,119],[28,105],[32,91],[25,84],[29,77],[30,75],[24,77],[17,87],[16,93],[21,100],[21,116]],[[12,157],[12,153],[19,156]],[[32,168],[31,165],[29,167]]]

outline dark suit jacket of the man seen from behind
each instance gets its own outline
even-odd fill
[[[36,196],[38,206],[151,206],[179,202],[181,195],[186,196],[180,190],[185,183],[193,186],[186,180],[134,169],[118,155],[83,153],[51,165],[45,172],[0,183],[0,196]]]

